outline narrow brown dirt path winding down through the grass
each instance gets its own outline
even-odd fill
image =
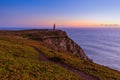
[[[48,62],[51,62],[51,63],[53,63],[53,64],[57,64],[57,65],[65,68],[65,69],[67,69],[68,71],[73,72],[73,73],[75,73],[76,75],[83,77],[85,80],[99,80],[98,78],[95,78],[95,77],[93,77],[93,76],[91,76],[91,75],[88,75],[88,74],[86,74],[86,73],[84,73],[84,72],[82,72],[82,71],[80,71],[80,70],[76,70],[76,69],[68,66],[67,64],[64,64],[64,63],[61,63],[61,62],[51,61],[51,60],[49,60],[48,58],[46,58],[46,57],[41,53],[41,51],[40,51],[39,49],[37,49],[37,48],[35,48],[35,47],[34,47],[34,49],[39,52],[39,58],[40,58],[41,60],[43,60],[43,61],[48,61]]]

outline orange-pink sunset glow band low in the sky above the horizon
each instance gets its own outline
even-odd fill
[[[120,28],[120,24],[97,22],[97,21],[50,21],[50,20],[28,20],[20,21],[22,24],[15,22],[15,25],[24,26],[52,26],[56,24],[58,27],[70,27],[70,28]]]

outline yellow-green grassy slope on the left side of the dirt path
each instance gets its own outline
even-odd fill
[[[38,52],[32,47],[25,45],[22,40],[1,37],[0,80],[83,79],[60,66],[41,61],[38,57]]]

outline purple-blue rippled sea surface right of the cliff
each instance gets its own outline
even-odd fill
[[[120,29],[62,29],[94,62],[120,71]]]

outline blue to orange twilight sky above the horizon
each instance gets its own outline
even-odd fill
[[[0,0],[0,27],[120,27],[120,0]]]

